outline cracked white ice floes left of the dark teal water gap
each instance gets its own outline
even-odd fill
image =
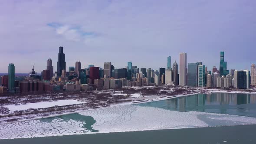
[[[54,119],[52,122],[40,120],[22,121],[11,124],[0,125],[0,139],[46,137],[58,135],[72,135],[90,132],[82,121],[63,121]]]

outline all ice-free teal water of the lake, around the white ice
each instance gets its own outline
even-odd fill
[[[152,101],[137,105],[143,107],[163,108],[171,111],[202,111],[256,117],[256,95],[254,94],[198,94],[163,101]],[[51,122],[56,118],[61,118],[64,121],[68,121],[70,119],[86,121],[86,124],[84,124],[85,128],[92,131],[97,131],[93,129],[93,124],[96,121],[92,117],[79,114],[44,118],[41,119],[41,121]],[[199,118],[202,121],[208,121],[209,123],[220,122],[206,120],[207,116],[205,115],[199,116]],[[22,138],[0,140],[0,144],[255,144],[255,130],[256,125],[240,125],[212,128],[186,128],[105,134],[83,134],[58,137]]]

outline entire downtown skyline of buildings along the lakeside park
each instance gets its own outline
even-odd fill
[[[59,47],[57,71],[53,71],[52,60],[47,60],[46,69],[38,75],[34,66],[28,76],[16,77],[15,66],[9,64],[8,75],[0,77],[0,94],[7,92],[56,92],[87,91],[95,89],[116,89],[124,86],[147,85],[181,85],[191,87],[217,87],[247,89],[256,85],[256,66],[248,70],[230,71],[226,69],[224,52],[220,52],[220,68],[214,66],[208,71],[203,62],[187,64],[187,53],[180,53],[179,65],[171,64],[171,56],[167,57],[167,67],[153,70],[133,66],[128,62],[126,68],[115,69],[111,62],[104,62],[104,68],[89,65],[81,69],[81,62],[69,66],[66,71],[63,47]]]

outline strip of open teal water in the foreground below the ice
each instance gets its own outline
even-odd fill
[[[0,140],[0,144],[256,144],[256,125]]]

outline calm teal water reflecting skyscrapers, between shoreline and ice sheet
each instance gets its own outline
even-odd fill
[[[197,94],[137,105],[172,111],[202,111],[256,117],[256,94]]]

